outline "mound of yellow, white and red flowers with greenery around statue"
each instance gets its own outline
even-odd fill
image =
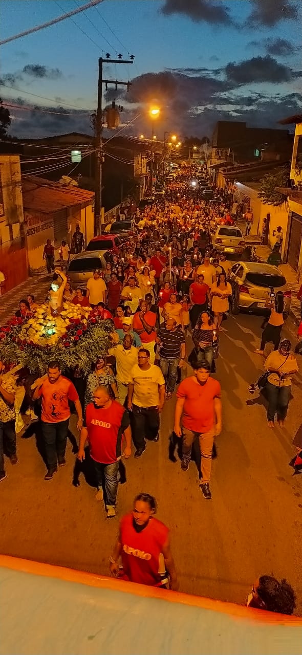
[[[77,366],[86,374],[107,352],[112,330],[112,321],[102,320],[91,307],[64,303],[60,316],[52,316],[44,304],[35,314],[14,316],[0,328],[0,358],[38,375],[45,373],[51,360],[58,360],[62,370]]]

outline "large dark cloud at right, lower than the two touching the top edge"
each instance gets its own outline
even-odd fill
[[[265,57],[252,57],[239,64],[230,62],[225,67],[225,74],[231,83],[248,84],[251,82],[289,82],[301,75],[300,71],[293,72],[292,69],[267,55]]]

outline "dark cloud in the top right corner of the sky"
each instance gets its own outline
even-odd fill
[[[251,27],[273,27],[280,21],[298,18],[299,0],[250,0],[252,12],[247,23]]]

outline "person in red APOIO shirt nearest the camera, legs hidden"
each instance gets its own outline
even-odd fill
[[[134,498],[131,514],[126,514],[120,523],[119,537],[109,557],[110,572],[119,575],[119,557],[123,562],[123,579],[153,587],[166,586],[160,565],[160,555],[170,576],[172,589],[178,589],[178,579],[170,550],[169,530],[154,518],[156,501],[149,493],[140,493]]]

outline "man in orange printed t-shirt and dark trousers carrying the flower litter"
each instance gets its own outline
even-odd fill
[[[42,398],[41,428],[45,441],[48,471],[45,480],[51,480],[56,473],[57,464],[65,466],[67,432],[70,418],[68,401],[75,403],[81,430],[83,418],[82,407],[73,383],[61,375],[60,364],[49,362],[47,375],[35,381],[33,400]]]

